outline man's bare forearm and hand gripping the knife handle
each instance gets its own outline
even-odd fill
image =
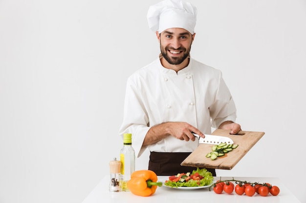
[[[205,135],[200,130],[186,122],[161,123],[149,129],[143,142],[143,146],[156,143],[169,135],[179,140],[195,141],[196,137],[193,135],[192,132],[198,134],[200,137],[205,137]]]

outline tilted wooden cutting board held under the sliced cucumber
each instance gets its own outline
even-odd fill
[[[216,129],[212,135],[220,135],[231,138],[234,144],[239,146],[224,156],[211,160],[206,154],[212,152],[210,144],[199,144],[182,163],[181,166],[193,166],[200,168],[216,168],[231,170],[240,159],[262,138],[264,132],[240,131],[238,135],[229,134],[230,130]]]

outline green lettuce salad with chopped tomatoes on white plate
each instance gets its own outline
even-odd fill
[[[213,174],[206,168],[197,168],[192,172],[178,173],[169,176],[169,180],[165,181],[166,186],[170,187],[199,187],[211,185],[214,181]]]

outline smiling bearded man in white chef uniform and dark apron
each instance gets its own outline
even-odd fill
[[[190,56],[194,5],[164,0],[149,7],[147,18],[161,53],[128,78],[119,134],[132,134],[137,157],[150,150],[148,169],[157,175],[192,172],[194,167],[180,166],[198,146],[192,132],[205,137],[213,127],[238,133],[235,103],[221,72]]]

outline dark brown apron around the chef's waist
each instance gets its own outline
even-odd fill
[[[180,164],[191,154],[191,152],[150,152],[149,170],[158,176],[171,176],[177,173],[187,173],[196,170],[197,167],[181,166]],[[216,170],[206,168],[216,176]]]

